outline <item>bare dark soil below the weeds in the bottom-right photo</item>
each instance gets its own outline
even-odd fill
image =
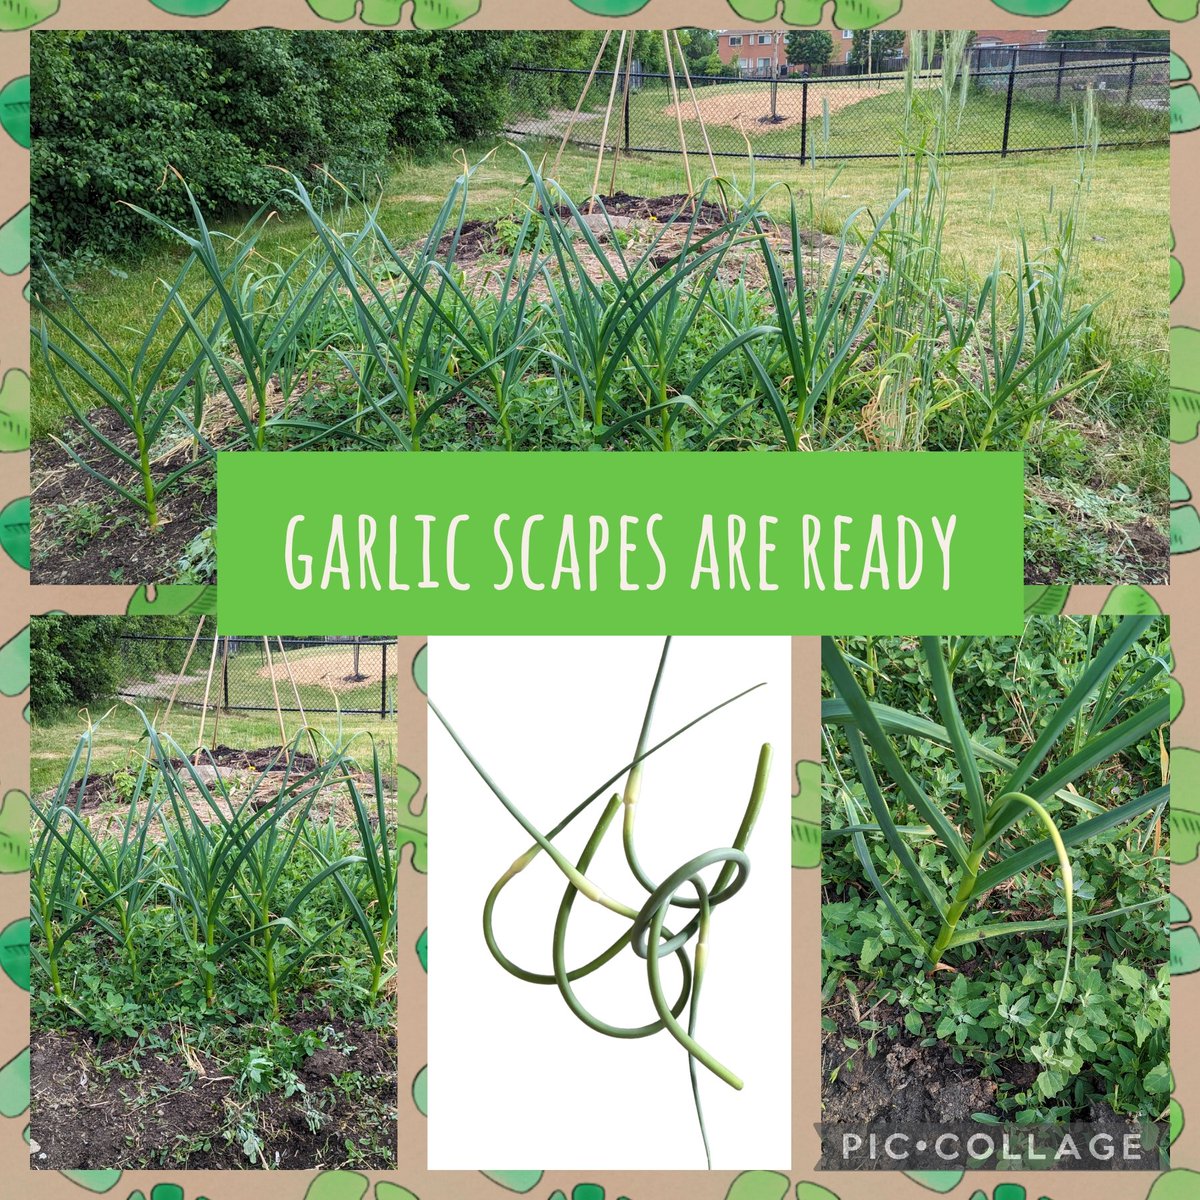
[[[842,996],[844,992],[839,992]],[[954,1061],[952,1048],[935,1040],[931,1045],[922,1045],[924,1038],[914,1038],[904,1026],[902,1012],[893,1004],[881,1003],[871,1012],[872,1019],[881,1026],[899,1026],[900,1033],[894,1042],[878,1038],[878,1052],[869,1057],[865,1034],[856,1021],[850,1007],[845,1003],[828,1006],[824,1016],[832,1016],[838,1022],[836,1030],[826,1030],[821,1034],[821,1120],[826,1124],[875,1126],[881,1132],[895,1132],[905,1126],[950,1126],[966,1124],[976,1114],[1003,1121],[996,1106],[997,1081],[980,1079],[979,1070],[970,1060],[965,1063]],[[846,1038],[863,1042],[863,1048],[851,1050]],[[853,1060],[851,1062],[851,1060]],[[1010,1087],[1026,1090],[1033,1085],[1038,1075],[1036,1063],[1009,1061],[1001,1063],[1003,1081]],[[830,1082],[829,1076],[838,1072],[838,1078]],[[1120,1116],[1106,1104],[1093,1105],[1087,1116],[1091,1132],[1111,1134],[1115,1142],[1126,1134],[1140,1132],[1140,1123],[1132,1117]],[[978,1126],[979,1129],[986,1128]],[[1165,1145],[1166,1127],[1158,1122],[1162,1145]],[[901,1170],[905,1164],[888,1162],[884,1158],[874,1160],[856,1160],[859,1169]],[[1115,1170],[1158,1169],[1158,1162],[1151,1154],[1142,1163],[1123,1163],[1120,1156],[1110,1164]],[[844,1162],[817,1164],[818,1170],[845,1169]],[[1057,1168],[1051,1164],[1039,1166],[1042,1170],[1096,1170],[1094,1163],[1063,1159]]]

